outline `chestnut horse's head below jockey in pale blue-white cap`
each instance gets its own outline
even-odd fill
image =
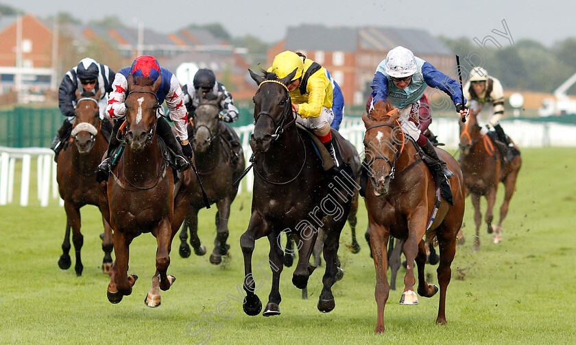
[[[400,112],[390,103],[379,101],[368,116],[362,114],[366,127],[365,157],[370,165],[370,177],[376,196],[387,194],[394,179],[396,158],[402,153],[405,134],[398,122]]]

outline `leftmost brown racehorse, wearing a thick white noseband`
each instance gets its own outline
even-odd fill
[[[78,276],[82,275],[82,259],[80,251],[84,243],[84,236],[80,232],[80,208],[84,205],[96,205],[99,207],[98,190],[96,183],[97,166],[101,161],[102,154],[108,146],[107,139],[100,131],[102,120],[99,117],[97,94],[85,92],[82,96],[76,92],[76,116],[74,129],[71,133],[71,142],[67,142],[64,149],[58,155],[58,192],[64,199],[66,211],[66,232],[62,243],[62,255],[58,259],[58,266],[62,270],[70,268],[70,229],[72,229],[72,242],[76,252],[76,264],[74,269]],[[107,120],[105,120],[107,121]],[[101,209],[100,209],[101,211]],[[102,238],[102,271],[108,273],[112,266],[112,230],[108,221],[103,217],[104,237]]]

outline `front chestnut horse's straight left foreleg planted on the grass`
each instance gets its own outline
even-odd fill
[[[368,215],[368,218],[371,218]],[[368,231],[367,231],[368,233]],[[390,285],[388,285],[387,270],[388,270],[388,254],[386,246],[389,240],[389,233],[387,229],[370,222],[370,251],[374,259],[374,268],[376,269],[376,288],[374,290],[374,298],[376,298],[376,306],[378,314],[376,316],[376,329],[374,333],[384,333],[384,307],[388,301],[388,294],[390,292]],[[398,242],[396,242],[398,246]]]

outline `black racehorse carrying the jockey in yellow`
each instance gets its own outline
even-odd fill
[[[243,288],[246,292],[243,309],[250,316],[259,314],[262,309],[260,298],[254,294],[254,241],[267,236],[270,243],[272,290],[263,315],[278,315],[281,300],[278,288],[284,259],[280,233],[292,233],[298,242],[298,264],[292,283],[302,289],[307,286],[313,271],[309,259],[318,228],[322,228],[326,235],[323,248],[326,271],[317,307],[323,312],[335,307],[331,287],[337,274],[336,254],[340,232],[350,212],[352,190],[356,187],[355,177],[350,177],[352,174],[346,170],[357,171],[358,162],[354,159],[353,146],[344,144],[346,140],[333,131],[332,136],[339,143],[341,155],[350,169],[345,168],[339,173],[324,171],[312,140],[296,127],[296,115],[291,110],[287,88],[295,74],[296,70],[283,79],[277,79],[274,73],[261,76],[250,71],[252,79],[259,85],[253,99],[254,133],[250,138],[255,153],[254,189],[250,223],[240,238],[245,269]]]

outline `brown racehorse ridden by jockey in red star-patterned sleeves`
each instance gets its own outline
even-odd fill
[[[118,164],[112,168],[101,189],[105,216],[114,229],[116,260],[110,269],[108,301],[119,303],[132,293],[138,278],[128,275],[130,242],[141,233],[157,240],[156,272],[145,298],[148,307],[160,305],[160,290],[168,290],[176,279],[167,274],[172,239],[186,216],[191,194],[191,170],[186,170],[174,186],[174,178],[156,135],[158,98],[162,79],[128,77],[125,99],[125,146]]]

